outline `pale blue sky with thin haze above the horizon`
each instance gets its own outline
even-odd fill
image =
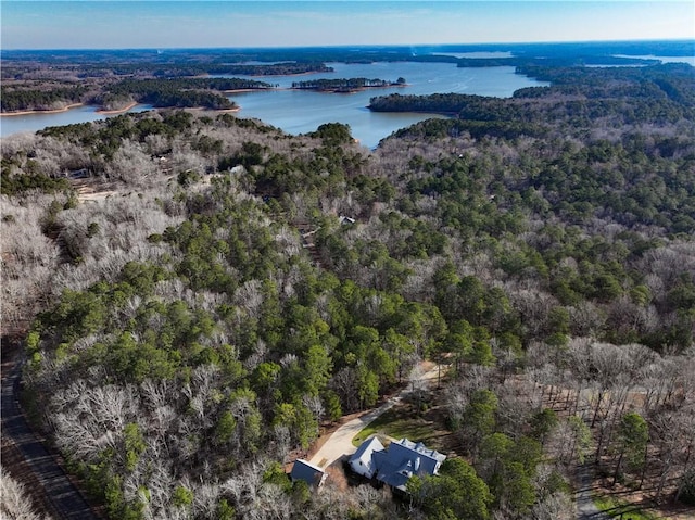
[[[2,49],[695,38],[695,1],[1,0]]]

